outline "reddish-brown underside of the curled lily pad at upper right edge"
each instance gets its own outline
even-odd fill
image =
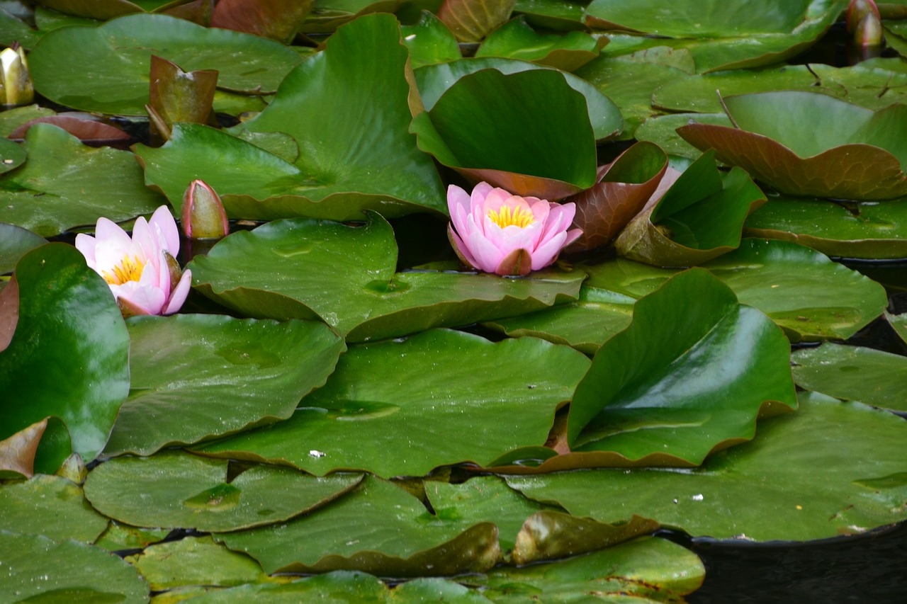
[[[754,179],[790,195],[844,200],[888,200],[907,194],[907,174],[892,153],[866,144],[845,144],[800,158],[781,143],[755,132],[701,123],[678,128],[700,151],[740,166]]]

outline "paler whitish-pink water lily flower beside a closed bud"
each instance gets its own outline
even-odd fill
[[[189,295],[192,272],[180,271],[180,233],[161,206],[151,220],[136,219],[132,238],[109,219],[98,219],[94,237],[75,236],[75,247],[110,285],[124,316],[172,315]]]

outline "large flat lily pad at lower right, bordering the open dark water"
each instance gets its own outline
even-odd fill
[[[715,453],[699,468],[561,472],[507,482],[599,521],[634,511],[694,536],[809,541],[907,519],[905,460],[902,418],[807,393],[797,413],[760,422],[753,442]]]

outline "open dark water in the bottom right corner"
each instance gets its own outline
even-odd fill
[[[907,602],[907,522],[804,544],[697,541],[706,581],[689,604]]]

